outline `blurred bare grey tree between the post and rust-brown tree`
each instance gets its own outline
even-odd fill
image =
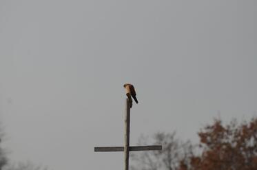
[[[163,145],[162,151],[150,151],[135,153],[132,155],[133,169],[145,170],[178,170],[180,162],[189,163],[189,156],[192,156],[192,145],[189,141],[181,142],[175,138],[175,133],[156,133],[152,138],[141,136],[139,145],[147,145],[147,142],[154,141],[154,145]]]

